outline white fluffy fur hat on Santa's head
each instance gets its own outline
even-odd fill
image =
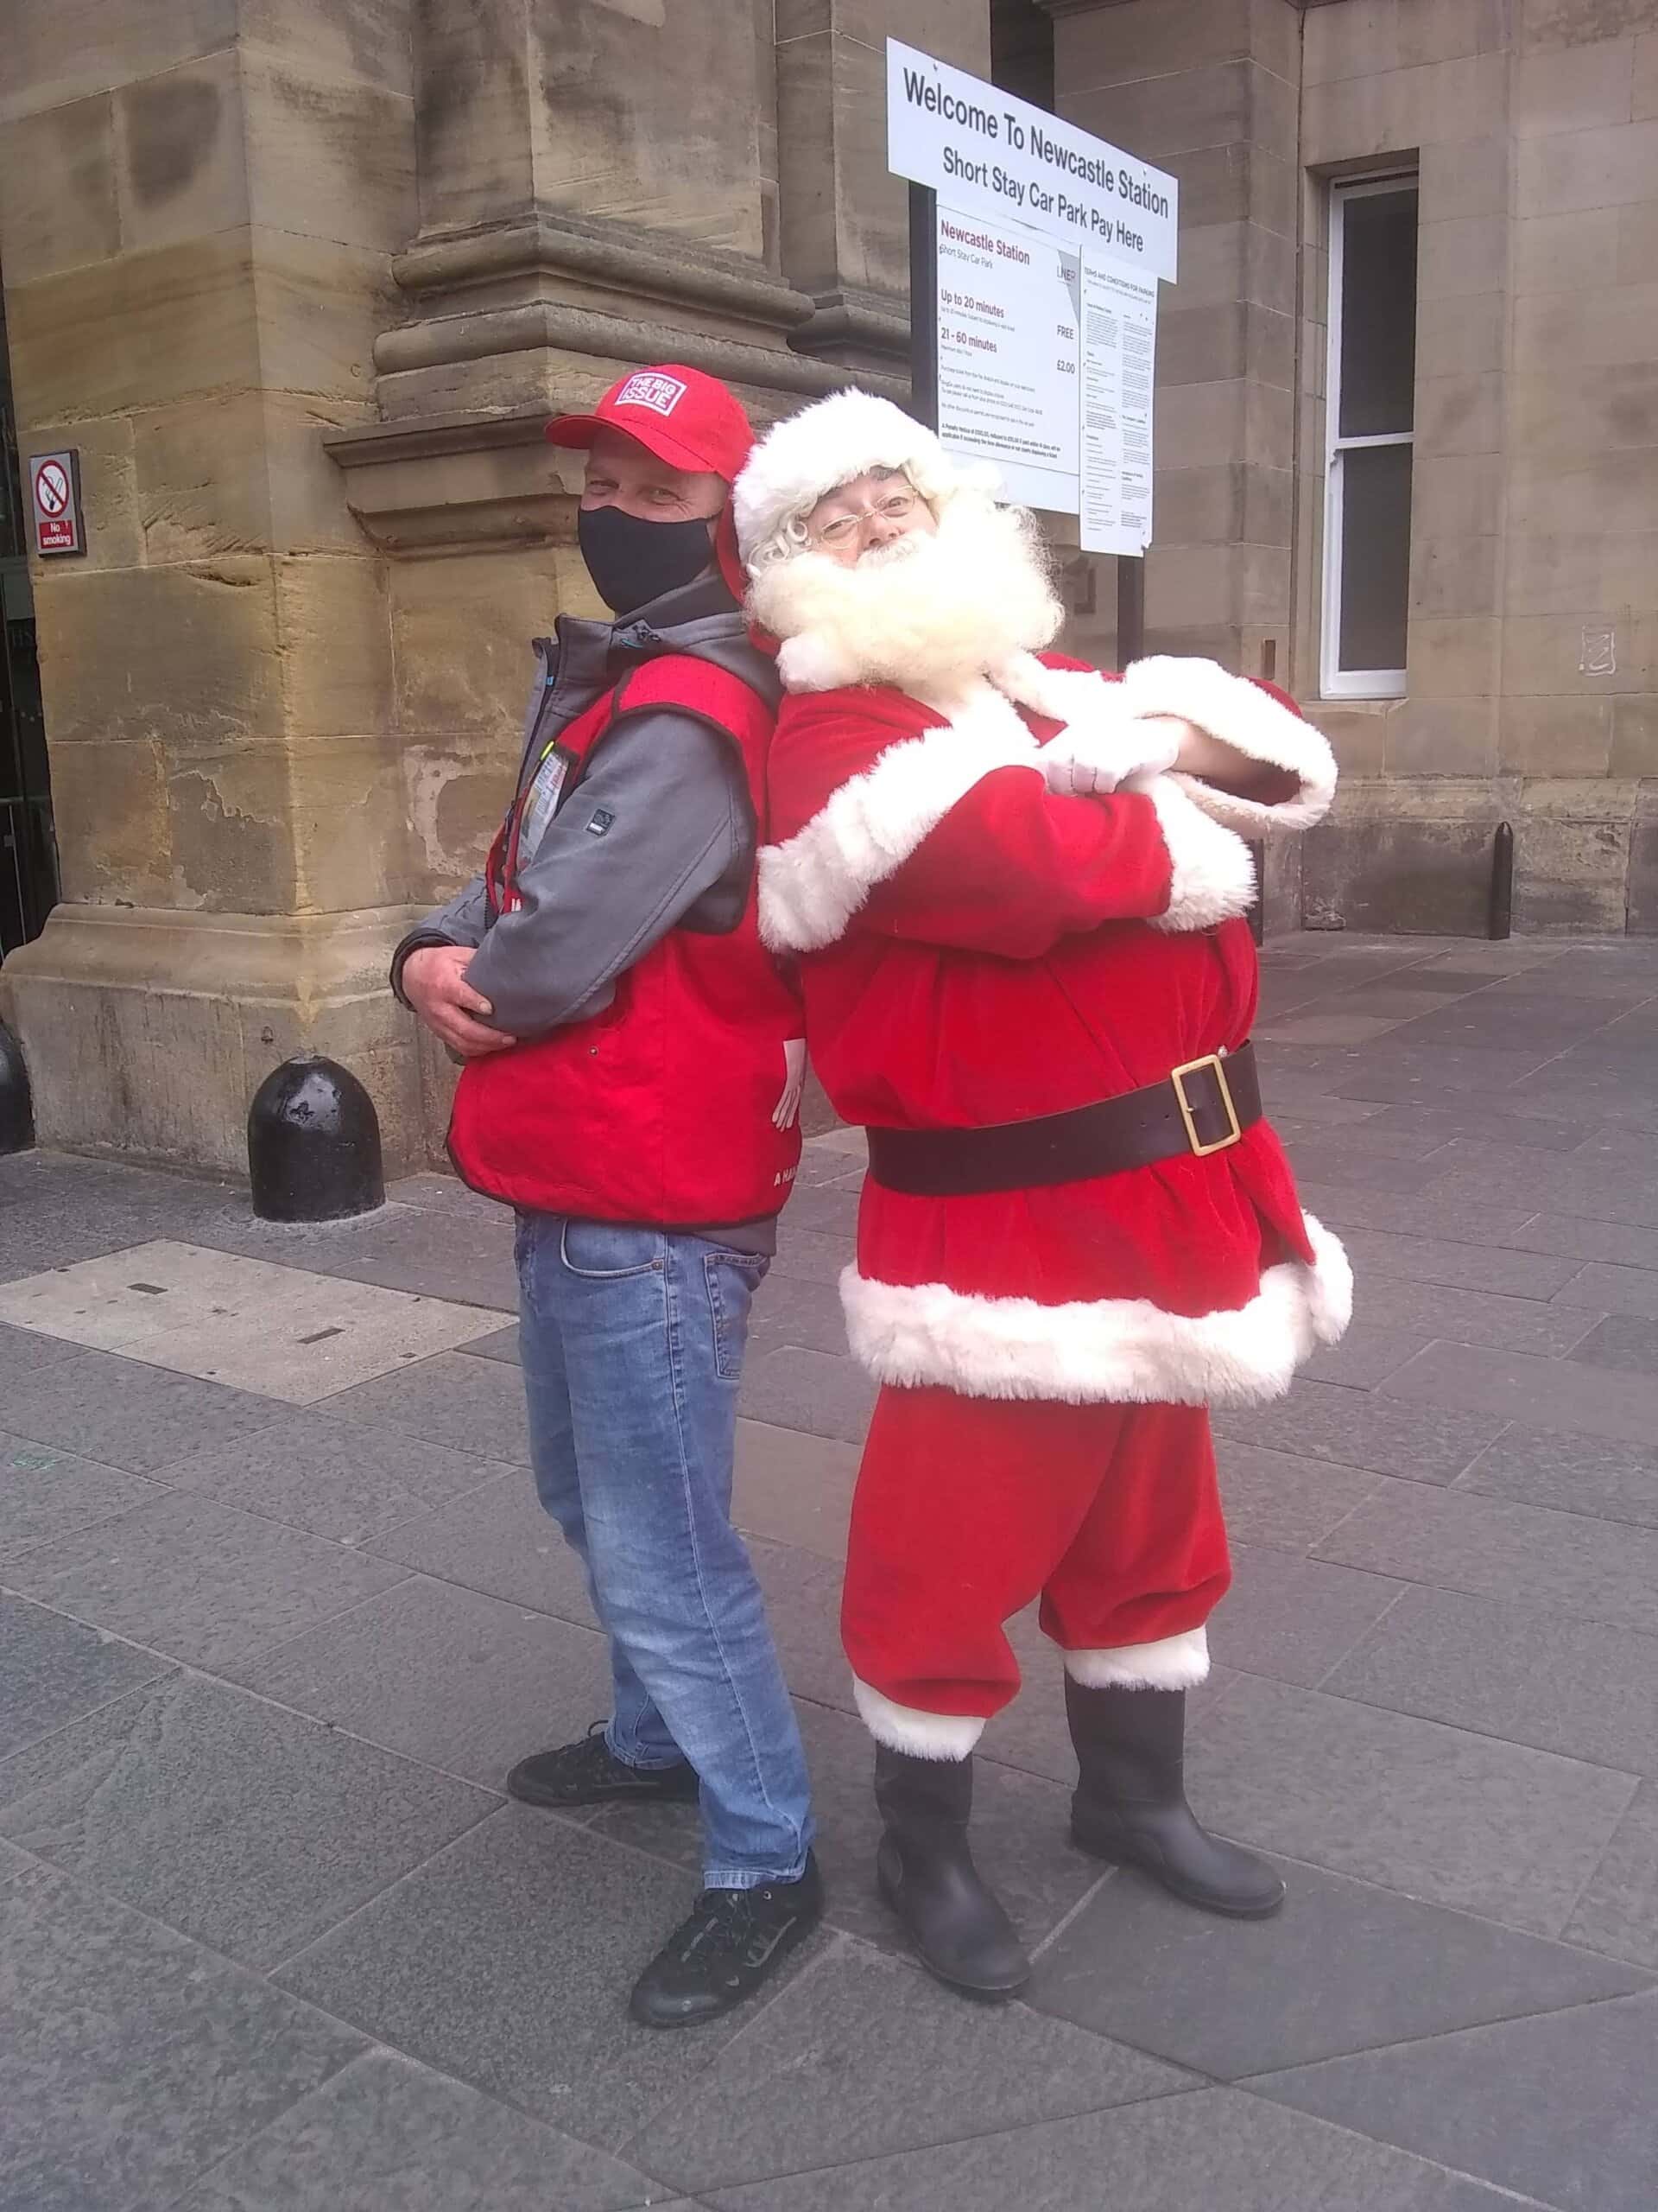
[[[871,469],[902,469],[935,513],[957,491],[995,489],[995,471],[962,469],[902,407],[849,387],[778,422],[749,453],[732,491],[743,560]]]

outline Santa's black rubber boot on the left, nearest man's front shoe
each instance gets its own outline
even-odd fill
[[[970,1997],[1012,1997],[1030,1960],[973,1865],[973,1761],[913,1759],[878,1743],[875,1803],[886,1823],[875,1882],[922,1964]]]

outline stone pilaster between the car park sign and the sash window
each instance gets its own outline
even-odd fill
[[[1041,0],[1057,108],[1180,179],[1156,363],[1147,644],[1289,672],[1300,9]]]

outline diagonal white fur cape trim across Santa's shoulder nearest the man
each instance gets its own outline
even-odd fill
[[[772,951],[833,945],[875,885],[993,770],[1041,774],[1037,739],[984,679],[962,699],[926,703],[951,719],[889,745],[785,845],[760,847],[760,936]]]

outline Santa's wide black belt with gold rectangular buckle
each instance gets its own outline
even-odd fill
[[[869,1172],[884,1190],[915,1199],[962,1199],[984,1190],[1037,1190],[1094,1175],[1147,1168],[1156,1159],[1225,1152],[1260,1121],[1253,1044],[1207,1053],[1161,1084],[1074,1113],[995,1128],[871,1128]]]

